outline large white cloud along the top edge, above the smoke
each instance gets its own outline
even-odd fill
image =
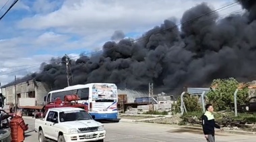
[[[162,23],[175,16],[181,18],[183,12],[202,0],[179,1],[65,1],[61,9],[46,15],[24,18],[19,26],[25,29],[57,28],[63,33],[82,35],[106,31],[141,31]],[[226,1],[209,1],[215,8]],[[182,5],[182,6],[181,6]],[[228,9],[230,11],[232,8]],[[236,7],[237,9],[237,7]],[[223,12],[222,12],[223,13]],[[224,11],[226,13],[226,11]]]

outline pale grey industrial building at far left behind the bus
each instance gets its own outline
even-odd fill
[[[35,104],[40,105],[44,102],[44,96],[51,91],[47,84],[36,80],[28,80],[16,85],[14,82],[11,82],[5,86],[1,86],[1,92],[6,98],[5,104],[15,104],[15,90],[17,92],[16,103],[18,105],[20,103],[20,98],[23,98],[21,100],[30,98],[28,100],[35,100]]]

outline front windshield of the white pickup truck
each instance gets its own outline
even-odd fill
[[[67,122],[67,121],[82,121],[82,120],[90,120],[92,117],[86,113],[86,111],[65,111],[59,113],[59,121]]]

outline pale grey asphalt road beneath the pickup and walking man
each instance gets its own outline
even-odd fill
[[[26,131],[25,142],[38,141],[38,133],[34,132],[34,119],[24,119],[29,125]],[[106,128],[105,142],[199,142],[205,141],[199,130],[185,131],[179,127],[170,125],[158,125],[151,123],[104,123]],[[218,132],[216,141],[251,142],[256,136],[232,135]]]

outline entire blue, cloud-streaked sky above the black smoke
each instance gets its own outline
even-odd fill
[[[0,8],[7,1],[1,0]],[[9,0],[0,15],[13,1]],[[232,2],[204,1],[214,9]],[[22,77],[39,68],[23,65],[39,65],[64,54],[78,56],[82,52],[101,50],[116,30],[123,31],[126,37],[139,38],[164,19],[174,17],[179,23],[184,11],[201,2],[203,0],[20,0],[0,21],[0,82],[6,84],[15,75]],[[237,9],[241,9],[240,5],[220,14]]]

